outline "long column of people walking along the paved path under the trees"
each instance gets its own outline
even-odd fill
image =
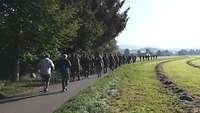
[[[123,64],[134,63],[136,56],[122,54],[63,54],[60,58],[56,69],[62,75],[62,91],[68,90],[70,81],[81,80],[88,78],[89,75],[97,74],[101,77],[102,73],[113,71]],[[39,63],[40,74],[44,86],[44,92],[48,91],[48,86],[51,79],[51,72],[55,69],[50,55],[46,54]]]

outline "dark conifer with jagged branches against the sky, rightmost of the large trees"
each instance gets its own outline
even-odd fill
[[[81,0],[79,3],[80,29],[73,45],[76,51],[93,51],[113,40],[123,31],[128,21],[127,12],[120,13],[125,1]]]

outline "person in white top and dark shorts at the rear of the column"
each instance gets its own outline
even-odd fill
[[[50,55],[45,55],[45,58],[42,59],[39,63],[40,74],[42,76],[42,82],[44,86],[44,92],[48,91],[49,82],[51,79],[51,71],[55,69],[53,61],[50,59]]]

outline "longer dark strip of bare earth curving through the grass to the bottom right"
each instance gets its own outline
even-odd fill
[[[163,70],[163,64],[171,62],[173,60],[164,61],[155,67],[156,75],[158,80],[163,84],[163,87],[176,95],[183,108],[187,110],[188,113],[200,113],[200,98],[194,97],[192,94],[188,93],[184,89],[180,88],[173,81],[169,80],[166,73]]]

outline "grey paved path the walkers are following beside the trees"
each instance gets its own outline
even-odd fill
[[[52,85],[47,94],[34,92],[32,95],[0,100],[0,113],[52,113],[66,101],[76,96],[98,80],[97,76],[72,82],[69,91],[61,92],[61,84]]]

